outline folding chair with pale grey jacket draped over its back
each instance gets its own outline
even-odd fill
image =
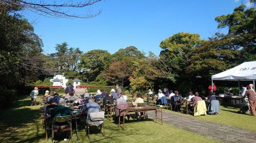
[[[88,136],[88,139],[90,140],[90,126],[100,126],[100,133],[102,133],[102,127],[103,127],[103,139],[105,137],[105,128],[104,128],[104,112],[96,112],[96,113],[90,113],[87,116],[86,119],[86,135]]]

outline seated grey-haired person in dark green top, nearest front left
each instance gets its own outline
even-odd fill
[[[70,109],[68,107],[65,107],[65,103],[66,103],[66,101],[64,99],[60,99],[60,101],[59,101],[60,105],[58,107],[55,107],[54,109],[52,109],[51,118],[54,118],[57,116],[68,116],[68,115],[72,116],[72,112],[70,111]],[[69,126],[70,125],[69,125],[68,121],[54,123],[54,128],[58,128],[58,129],[64,129]],[[70,133],[70,131],[65,132],[65,139],[67,139],[69,137],[69,133]]]

